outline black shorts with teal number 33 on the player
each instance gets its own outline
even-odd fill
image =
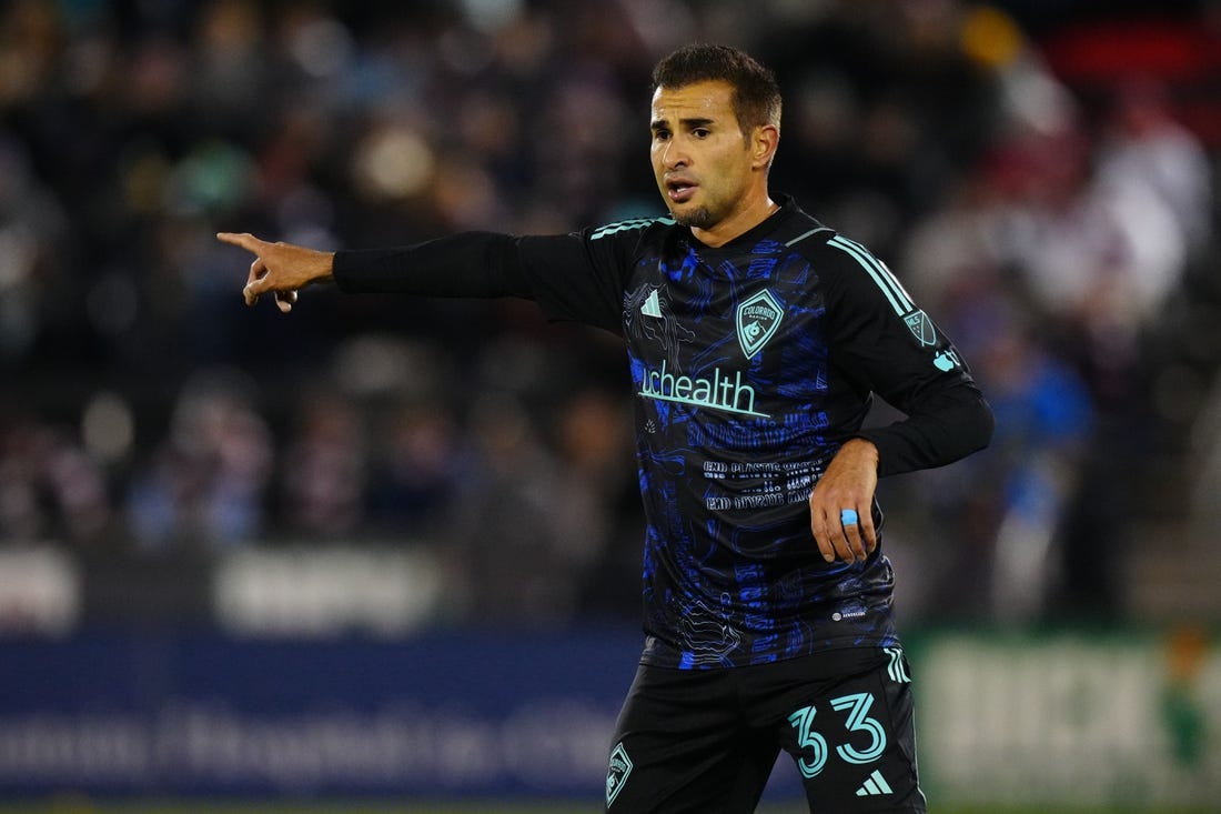
[[[926,812],[911,672],[896,648],[724,670],[636,671],[610,749],[610,814],[745,814],[780,749],[810,810]]]

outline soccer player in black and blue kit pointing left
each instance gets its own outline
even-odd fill
[[[536,301],[624,337],[645,502],[643,653],[606,810],[752,812],[780,749],[812,812],[924,812],[879,477],[989,442],[950,340],[886,265],[768,192],[772,72],[691,45],[653,72],[669,216],[325,253],[250,235],[247,304],[346,292]],[[873,394],[904,417],[862,429]]]

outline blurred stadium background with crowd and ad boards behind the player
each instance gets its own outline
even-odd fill
[[[214,235],[662,214],[648,73],[691,40],[775,68],[773,189],[996,411],[879,489],[935,808],[1215,810],[1216,0],[0,4],[0,803],[600,810],[641,638],[620,342],[247,309]]]

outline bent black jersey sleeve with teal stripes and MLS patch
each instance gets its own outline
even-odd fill
[[[857,433],[878,447],[878,474],[944,466],[985,447],[991,408],[950,339],[860,243],[836,235],[824,251],[830,362],[905,414]]]

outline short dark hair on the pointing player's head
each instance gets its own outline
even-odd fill
[[[780,86],[772,70],[750,54],[729,45],[684,45],[653,68],[657,88],[681,88],[696,82],[728,82],[731,104],[744,134],[761,125],[780,126]]]

